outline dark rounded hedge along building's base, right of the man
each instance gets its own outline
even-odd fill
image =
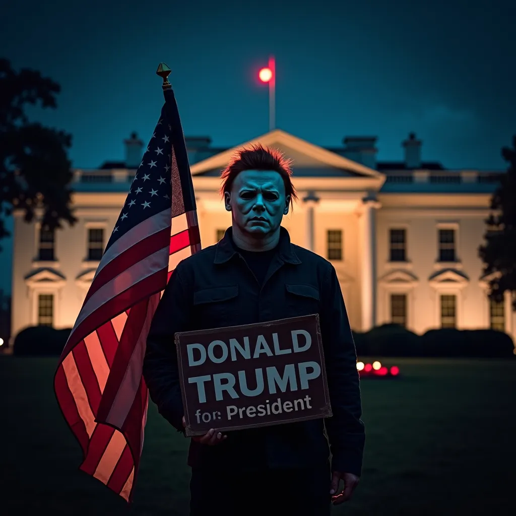
[[[365,333],[353,332],[359,357],[470,357],[514,356],[509,335],[496,330],[429,330],[417,335],[398,325],[386,324]]]

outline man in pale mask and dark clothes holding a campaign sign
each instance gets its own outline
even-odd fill
[[[184,431],[175,332],[318,313],[333,416],[192,438],[190,516],[324,516],[332,502],[349,499],[361,475],[356,350],[335,269],[291,244],[280,226],[297,199],[291,175],[282,154],[261,146],[238,152],[222,172],[232,226],[176,267],[152,321],[143,375],[159,413]]]

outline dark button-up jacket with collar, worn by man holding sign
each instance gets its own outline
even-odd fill
[[[302,467],[328,460],[332,469],[361,474],[365,443],[357,355],[335,269],[319,255],[291,244],[281,228],[278,252],[263,286],[232,243],[231,228],[218,244],[183,260],[156,309],[143,376],[158,411],[183,431],[174,333],[265,322],[318,313],[333,416],[237,430],[216,446],[190,443],[188,464],[233,470]]]

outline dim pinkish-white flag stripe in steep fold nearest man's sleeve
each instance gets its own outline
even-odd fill
[[[134,347],[133,354],[127,364],[127,369],[125,370],[124,377],[120,383],[115,399],[113,400],[111,409],[106,417],[106,423],[117,428],[122,428],[140,386],[143,356],[147,345],[147,335],[149,334],[152,317],[154,316],[158,302],[159,294],[151,296],[149,299],[147,314],[145,321],[143,322],[140,335],[138,336],[138,342]]]

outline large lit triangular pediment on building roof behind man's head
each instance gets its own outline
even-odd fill
[[[236,151],[256,143],[261,143],[265,147],[275,147],[284,152],[287,158],[292,158],[296,176],[320,175],[384,179],[384,175],[377,170],[365,167],[281,129],[275,129],[232,149],[203,159],[190,167],[191,173],[192,175],[216,175],[228,165]]]

